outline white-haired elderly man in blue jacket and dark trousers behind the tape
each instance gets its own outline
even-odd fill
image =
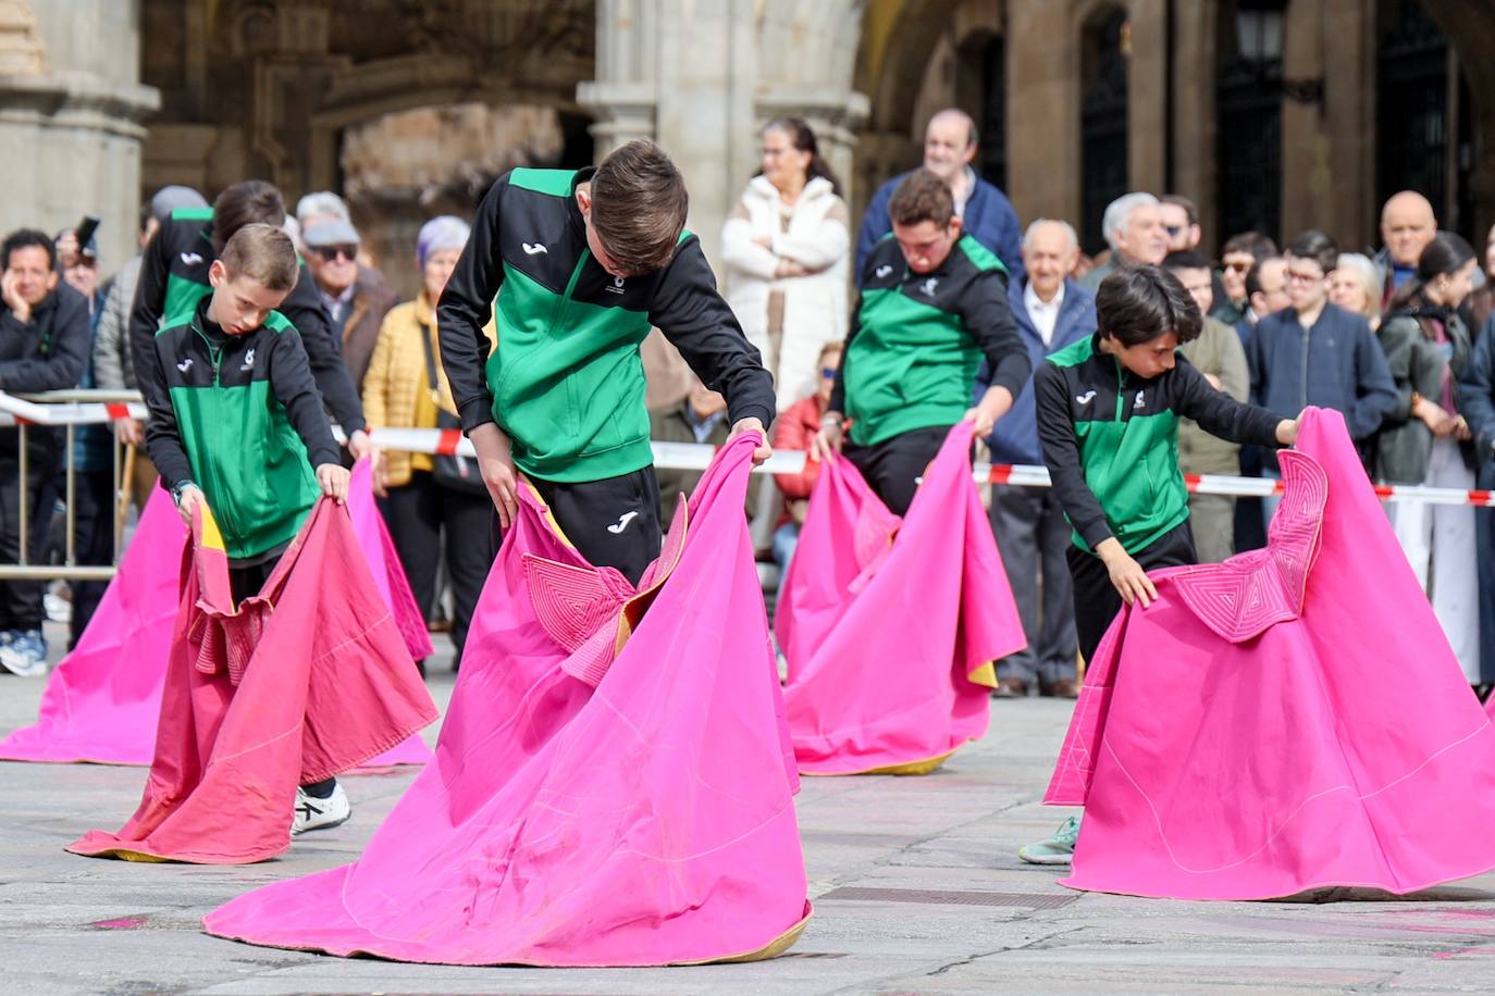
[[[1094,297],[1067,279],[1078,257],[1079,239],[1067,222],[1041,218],[1023,236],[1027,275],[1014,284],[1009,297],[1035,369],[1048,354],[1096,332]],[[988,379],[982,364],[975,397],[985,393]],[[987,442],[993,463],[1044,463],[1032,378]],[[1039,694],[1072,699],[1078,694],[1075,606],[1064,560],[1070,530],[1055,491],[993,485],[991,529],[1029,638],[1026,650],[997,662],[996,696],[1017,699],[1036,688]]]

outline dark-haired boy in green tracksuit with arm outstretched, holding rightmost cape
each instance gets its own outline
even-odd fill
[[[1096,334],[1046,357],[1033,373],[1038,438],[1073,527],[1069,572],[1075,630],[1090,660],[1121,603],[1157,597],[1147,572],[1196,563],[1189,488],[1178,469],[1178,420],[1211,436],[1290,446],[1298,423],[1221,393],[1177,352],[1203,317],[1177,276],[1130,266],[1096,291]],[[1018,856],[1069,865],[1079,836],[1072,817]]]

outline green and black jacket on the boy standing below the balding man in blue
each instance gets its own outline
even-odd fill
[[[1008,306],[1008,270],[969,234],[930,273],[915,273],[893,236],[867,254],[830,411],[849,439],[875,446],[913,429],[954,426],[970,411],[982,355],[991,385],[1017,397],[1033,366]]]

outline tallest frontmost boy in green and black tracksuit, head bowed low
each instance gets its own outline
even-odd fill
[[[638,358],[650,326],[727,397],[733,436],[764,433],[774,412],[773,379],[685,214],[685,181],[652,142],[595,170],[516,169],[483,199],[437,306],[441,361],[499,527],[517,511],[517,469],[583,557],[635,582],[662,539]],[[764,442],[755,460],[768,452]]]

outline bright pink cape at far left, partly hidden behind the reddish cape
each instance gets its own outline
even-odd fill
[[[428,657],[432,648],[425,617],[374,505],[368,460],[353,469],[348,514],[405,647],[411,657]],[[0,760],[151,763],[172,621],[181,599],[184,538],[170,496],[155,488],[88,629],[52,670],[36,724],[0,741]],[[426,745],[413,738],[369,766],[425,765],[429,759]]]

